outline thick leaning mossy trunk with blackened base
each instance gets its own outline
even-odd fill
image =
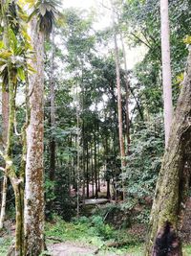
[[[191,173],[191,49],[151,212],[147,256],[181,256],[180,215]]]

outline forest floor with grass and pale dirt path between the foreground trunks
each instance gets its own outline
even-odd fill
[[[138,243],[133,237],[129,237],[130,243],[121,247],[111,246],[116,233],[109,226],[104,230],[99,229],[98,219],[94,226],[90,226],[87,220],[80,222],[66,222],[55,218],[53,222],[46,224],[46,244],[48,251],[42,255],[52,256],[142,256],[143,244]],[[136,227],[135,227],[136,228]],[[114,232],[114,234],[113,234]],[[129,233],[130,234],[130,233]],[[0,256],[7,256],[7,252],[13,240],[12,228],[0,236]],[[121,230],[121,236],[126,236],[125,230]],[[130,234],[130,236],[133,236]],[[183,247],[184,256],[191,255],[191,245]]]

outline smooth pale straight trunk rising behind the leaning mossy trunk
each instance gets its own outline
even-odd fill
[[[160,0],[160,16],[165,147],[167,148],[170,128],[173,119],[168,0]]]

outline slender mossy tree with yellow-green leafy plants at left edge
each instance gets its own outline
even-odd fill
[[[5,142],[5,151],[1,151],[1,156],[5,162],[5,175],[11,180],[11,185],[15,197],[16,212],[16,230],[14,251],[16,255],[22,255],[24,248],[23,239],[23,204],[24,204],[24,166],[25,166],[25,126],[22,128],[21,141],[23,149],[21,152],[21,161],[17,166],[15,163],[15,155],[13,154],[13,146],[15,145],[15,119],[16,107],[15,99],[17,86],[19,81],[27,81],[28,68],[25,64],[25,56],[29,50],[29,42],[23,36],[19,42],[16,35],[18,32],[25,33],[22,28],[23,20],[20,18],[22,9],[17,12],[18,6],[14,1],[2,1],[1,13],[4,22],[4,43],[1,47],[1,78],[4,85],[8,84],[9,90],[9,122],[7,140]],[[20,21],[18,23],[18,20]],[[20,37],[18,35],[18,37]],[[15,61],[15,59],[17,59]],[[6,81],[6,82],[5,82]],[[26,82],[27,84],[27,82]],[[17,171],[18,168],[18,171]]]

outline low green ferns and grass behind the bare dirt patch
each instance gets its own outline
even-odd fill
[[[114,248],[107,248],[107,242],[124,241],[126,246],[121,251],[132,250],[133,245],[138,245],[138,237],[130,235],[124,229],[115,230],[109,224],[103,221],[103,218],[96,215],[88,219],[81,217],[78,221],[72,222],[61,221],[60,218],[54,217],[53,223],[47,223],[46,236],[60,238],[63,241],[76,241],[80,244],[92,244],[99,246],[102,250],[111,250],[119,252]]]

